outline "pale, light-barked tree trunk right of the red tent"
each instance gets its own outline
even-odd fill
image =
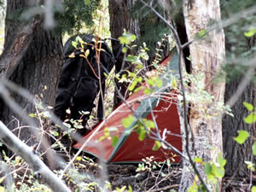
[[[185,26],[189,41],[207,29],[211,20],[220,20],[219,1],[184,1],[183,13]],[[224,82],[212,84],[214,75],[218,73],[224,57],[224,32],[211,32],[207,36],[207,41],[196,41],[189,46],[191,55],[191,73],[204,73],[204,84],[207,92],[214,96],[213,103],[209,103],[208,108],[216,102],[224,102]],[[193,83],[191,84],[193,88]],[[193,89],[192,89],[193,91]],[[194,90],[195,91],[195,90]],[[222,124],[221,118],[206,118],[202,112],[200,103],[191,103],[189,110],[189,125],[193,137],[189,138],[189,153],[192,158],[201,157],[203,160],[217,159],[218,153],[222,152]],[[210,115],[218,112],[210,112]],[[209,143],[216,150],[207,147]],[[183,162],[183,177],[179,191],[187,191],[189,185],[194,181],[194,173],[189,171],[191,166],[188,162]],[[205,178],[204,168],[198,166],[201,176]],[[212,186],[212,188],[215,188]],[[212,191],[215,191],[212,189]]]

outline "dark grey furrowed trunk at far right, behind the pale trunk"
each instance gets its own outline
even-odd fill
[[[248,41],[247,49],[251,49],[253,45],[256,44],[256,36],[250,38]],[[227,45],[230,47],[230,44]],[[226,90],[224,95],[225,102],[228,102],[230,97],[234,95],[238,85],[241,82],[240,79],[232,79],[226,84]],[[237,136],[237,131],[246,130],[251,136],[256,136],[255,125],[246,124],[243,120],[247,114],[247,109],[243,106],[242,102],[248,102],[256,106],[256,88],[255,84],[248,84],[246,89],[243,90],[243,94],[238,98],[236,104],[232,107],[232,113],[234,117],[230,115],[225,115],[223,119],[223,148],[224,155],[227,159],[227,164],[225,166],[226,176],[232,177],[249,177],[249,170],[247,165],[244,163],[245,160],[253,161],[252,152],[252,139],[248,139],[246,143],[240,145],[234,141],[234,137]],[[255,160],[255,159],[254,159]]]

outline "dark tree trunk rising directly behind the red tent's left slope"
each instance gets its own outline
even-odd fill
[[[137,20],[132,20],[130,16],[130,9],[134,0],[109,0],[109,18],[110,18],[110,32],[112,38],[119,38],[123,35],[124,30],[135,34],[137,38],[140,37],[140,30]],[[119,42],[112,41],[113,53],[119,49]],[[120,55],[115,65],[115,73],[119,73],[122,69],[128,68],[131,70],[131,63],[123,62],[124,56]],[[120,76],[121,77],[121,76]],[[116,81],[118,90],[125,96],[128,84],[120,84]],[[116,90],[117,91],[117,90]],[[113,107],[117,107],[119,102],[122,102],[118,94],[114,94]]]

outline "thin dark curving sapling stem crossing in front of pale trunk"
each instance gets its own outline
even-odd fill
[[[186,97],[185,97],[185,89],[184,89],[184,84],[183,84],[183,73],[182,73],[182,66],[181,66],[181,60],[182,60],[182,44],[180,42],[180,39],[177,35],[177,31],[174,29],[174,27],[162,16],[160,15],[152,6],[149,6],[148,3],[145,3],[143,0],[140,0],[143,2],[149,9],[151,9],[155,15],[157,15],[160,20],[163,20],[167,26],[170,27],[173,38],[176,41],[177,44],[177,53],[179,55],[178,57],[178,73],[180,76],[180,83],[181,83],[181,90],[183,93],[183,113],[184,113],[184,128],[185,128],[185,133],[186,133],[186,143],[185,143],[185,148],[186,148],[186,153],[188,154],[189,157],[189,163],[193,167],[195,174],[198,176],[201,184],[204,186],[204,188],[207,190],[207,192],[210,192],[210,189],[208,188],[207,184],[201,177],[200,172],[198,171],[197,167],[195,166],[195,162],[192,160],[191,154],[189,153],[189,127],[188,127],[188,119],[187,119],[187,106],[186,106]]]

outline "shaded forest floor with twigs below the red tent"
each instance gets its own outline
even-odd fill
[[[149,160],[150,161],[150,160]],[[92,161],[90,161],[92,162]],[[102,177],[100,164],[86,164],[86,171],[91,172],[95,178]],[[110,191],[133,191],[133,192],[177,192],[182,177],[182,169],[177,164],[158,164],[148,162],[137,165],[104,165],[111,188]],[[89,180],[87,182],[90,182]],[[222,191],[247,192],[251,191],[256,178],[224,177]],[[129,186],[132,190],[129,190]],[[92,187],[90,191],[101,191]]]

